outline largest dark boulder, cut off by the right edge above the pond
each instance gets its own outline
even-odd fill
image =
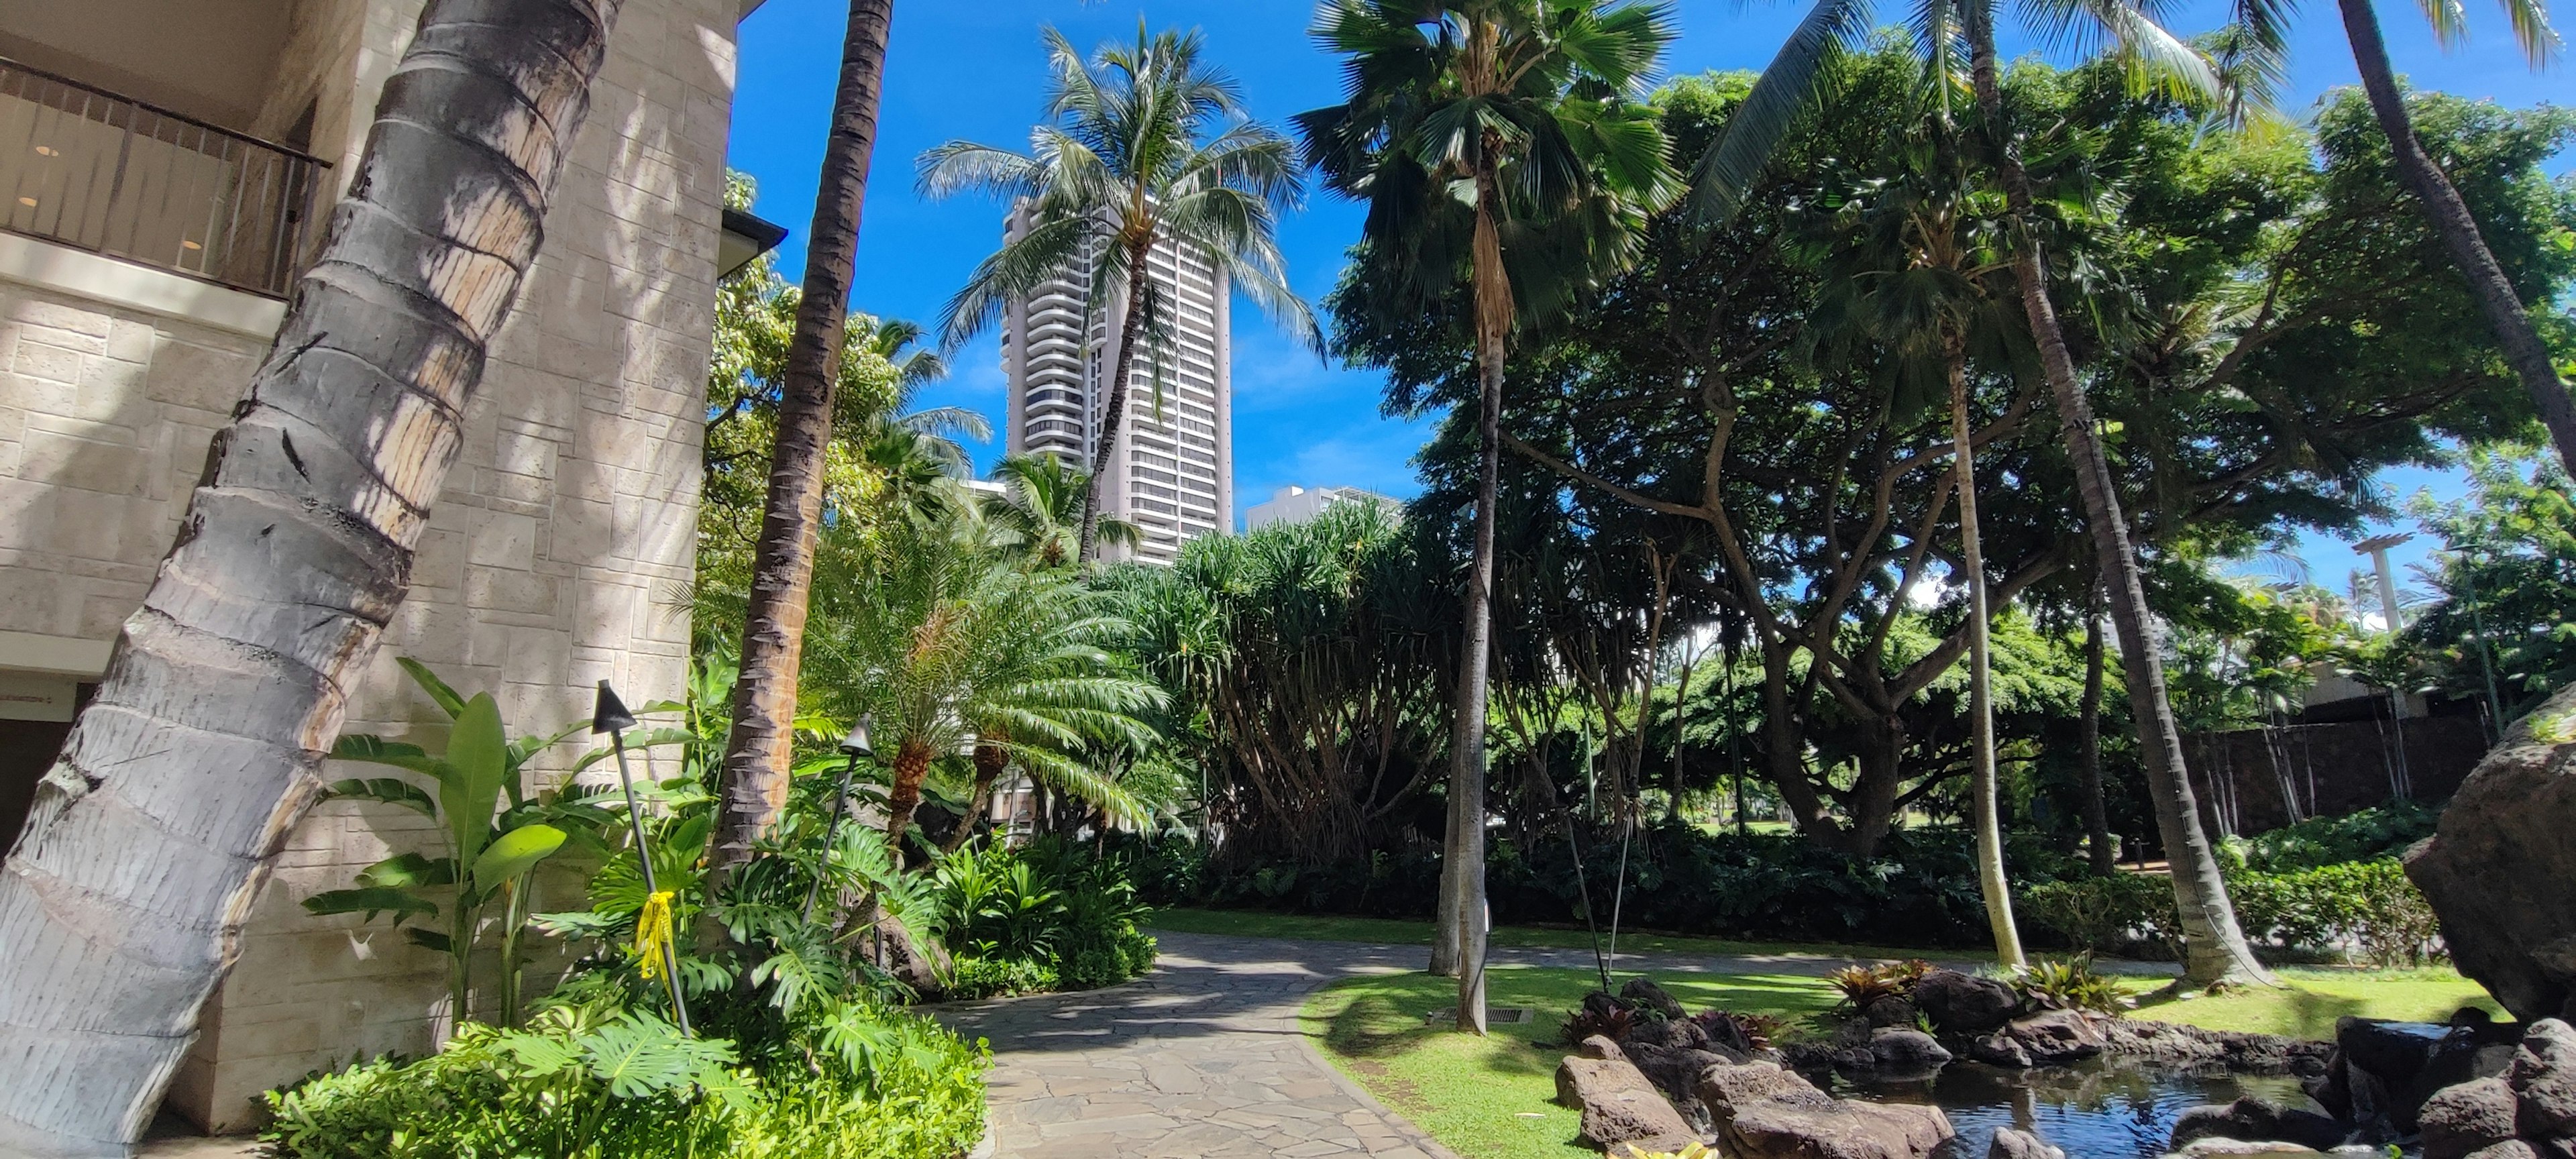
[[[2406,876],[2460,974],[2527,1022],[2576,1015],[2576,685],[2514,724],[2460,783]]]

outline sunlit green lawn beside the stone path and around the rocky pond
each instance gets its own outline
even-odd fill
[[[1213,922],[1206,912],[1185,917]],[[1267,914],[1265,914],[1267,917]],[[1278,938],[1329,938],[1319,930],[1347,930],[1370,919],[1285,919],[1316,932],[1278,932]],[[1383,922],[1412,930],[1412,922]],[[1195,927],[1195,925],[1193,925]],[[1236,932],[1203,927],[1203,932]],[[1365,938],[1404,943],[1419,938]],[[1623,938],[1625,943],[1625,938]],[[1741,945],[1741,943],[1728,943]],[[1777,950],[1777,948],[1772,948]],[[1734,953],[1734,950],[1728,950]],[[1427,974],[1388,974],[1347,979],[1319,989],[1301,1012],[1303,1028],[1342,1074],[1368,1087],[1381,1102],[1414,1120],[1450,1151],[1479,1159],[1577,1159],[1597,1156],[1574,1144],[1579,1115],[1551,1102],[1556,1061],[1564,1059],[1556,1025],[1582,1004],[1595,986],[1589,971],[1494,968],[1486,974],[1492,1007],[1533,1007],[1530,1022],[1494,1022],[1486,1038],[1450,1030],[1455,979]],[[1734,1010],[1749,1015],[1806,1017],[1834,1004],[1824,979],[1785,974],[1662,974],[1656,981],[1690,1010]],[[2450,968],[2424,971],[2282,971],[2282,989],[2246,989],[2197,999],[2151,999],[2156,979],[2128,979],[2143,1004],[2133,1017],[2159,1017],[2213,1030],[2262,1030],[2303,1038],[2331,1038],[2334,1020],[2406,1017],[2442,1020],[2463,1004],[2496,1010],[2478,984]],[[1425,1015],[1440,1012],[1437,1020]]]

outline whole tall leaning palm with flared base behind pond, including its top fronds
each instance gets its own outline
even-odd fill
[[[2257,3],[2262,0],[2239,0],[2239,8]],[[2089,26],[2105,33],[2138,88],[2159,88],[2179,98],[2221,98],[2218,70],[2210,59],[2177,41],[2130,0],[2043,3],[2035,8],[2035,15],[2058,28]],[[1700,160],[1695,196],[1705,214],[1731,214],[1741,206],[1744,191],[1752,188],[1752,180],[1762,173],[1780,137],[1788,134],[1795,113],[1816,100],[1829,64],[1868,26],[1870,0],[1816,0],[1816,8],[1790,33],[1790,41],[1780,46],[1780,54],[1762,72],[1762,80],[1754,82],[1754,90],[1747,93],[1744,106],[1726,126],[1726,137]],[[2128,675],[2130,708],[2146,731],[2138,747],[2146,762],[2148,793],[2156,804],[2156,829],[2164,834],[2164,850],[2174,865],[2172,883],[2182,912],[2184,981],[2197,986],[2218,981],[2269,984],[2272,974],[2254,961],[2254,950],[2236,925],[2226,881],[2218,876],[2218,858],[2210,850],[2208,832],[2200,827],[2200,804],[2182,762],[2182,729],[2164,690],[2164,659],[2154,634],[2154,616],[2146,608],[2138,554],[2128,541],[2128,518],[2120,513],[2120,495],[2110,476],[2110,461],[2102,453],[2092,402],[2076,376],[2056,304],[2048,299],[2048,263],[2035,232],[2038,216],[2032,214],[2030,173],[2022,167],[2020,139],[2012,134],[1996,77],[1994,5],[1989,0],[1919,5],[1914,33],[1942,93],[1955,85],[1960,49],[1968,54],[1968,77],[1976,93],[1978,121],[1989,139],[1989,160],[2004,185],[2004,250],[2020,288],[2030,337],[2038,345],[2040,373],[2058,404],[2066,458],[2076,471],[2076,495],[2084,502],[2084,520],[2092,528],[2097,569],[2110,590],[2112,626],[2120,631],[2120,662]]]

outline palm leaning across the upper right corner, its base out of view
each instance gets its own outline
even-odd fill
[[[2424,219],[2432,221],[2434,234],[2450,247],[2450,260],[2468,278],[2470,296],[2478,299],[2486,322],[2496,327],[2496,345],[2504,348],[2504,361],[2522,379],[2522,389],[2532,394],[2540,422],[2550,430],[2550,440],[2558,443],[2558,461],[2576,471],[2576,402],[2568,402],[2568,386],[2558,379],[2548,345],[2540,343],[2532,312],[2514,294],[2514,283],[2504,276],[2504,265],[2496,263],[2496,252],[2486,247],[2486,234],[2478,232],[2478,219],[2468,214],[2468,201],[2460,198],[2450,175],[2434,165],[2432,155],[2424,152],[2424,142],[2416,139],[2414,118],[2406,113],[2406,93],[2398,90],[2396,70],[2388,64],[2388,41],[2380,39],[2378,10],[2370,8],[2370,0],[2336,0],[2336,8],[2344,13],[2344,39],[2352,41],[2352,62],[2362,72],[2362,95],[2370,98],[2370,113],[2378,116],[2380,131],[2388,134],[2388,152],[2396,155],[2398,180],[2424,203]],[[2254,10],[2280,15],[2275,5],[2254,5]],[[2514,26],[2514,41],[2522,44],[2522,54],[2530,57],[2535,70],[2558,54],[2558,33],[2550,28],[2545,0],[2504,0],[2504,13]],[[2432,21],[2434,39],[2445,46],[2465,36],[2458,3],[2427,3],[2424,15]],[[2272,46],[2282,41],[2277,28],[2257,36]]]

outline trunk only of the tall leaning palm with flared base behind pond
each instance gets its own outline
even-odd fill
[[[2030,173],[2022,170],[2020,147],[2004,121],[2004,93],[1994,75],[1994,13],[1984,0],[1968,5],[1965,28],[1976,106],[1996,142],[1996,167],[2004,178],[2004,201],[2017,242],[2012,273],[2022,288],[2022,314],[2030,319],[2030,335],[2040,348],[2040,371],[2058,402],[2058,428],[2066,435],[2066,458],[2076,471],[2076,495],[2084,500],[2084,523],[2092,525],[2097,569],[2110,585],[2120,664],[2128,675],[2130,713],[2141,729],[2138,749],[2146,757],[2146,786],[2156,801],[2156,829],[2164,834],[2174,904],[2182,912],[2182,979],[2192,986],[2272,984],[2272,974],[2254,961],[2254,950],[2236,925],[2236,907],[2228,904],[2228,886],[2218,878],[2218,858],[2200,827],[2200,801],[2192,798],[2192,778],[2182,762],[2182,729],[2164,695],[2164,659],[2156,654],[2138,554],[2128,543],[2128,520],[2110,479],[2110,461],[2094,438],[2092,402],[2084,397],[2084,384],[2076,381],[2076,363],[2066,350],[2056,304],[2048,301],[2048,265],[2040,260],[2040,242],[2032,234]]]

